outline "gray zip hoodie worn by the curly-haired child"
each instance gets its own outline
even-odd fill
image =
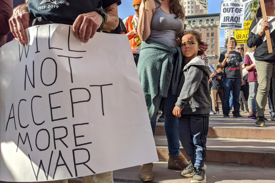
[[[179,97],[175,105],[183,109],[181,114],[209,114],[209,67],[201,56],[197,56],[182,71],[177,90]]]

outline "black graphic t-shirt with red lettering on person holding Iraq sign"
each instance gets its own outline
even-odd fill
[[[227,51],[221,52],[219,62],[223,62],[225,59],[225,53],[227,53]],[[224,66],[223,78],[241,78],[240,62],[242,61],[243,59],[239,52],[229,51],[229,60]]]

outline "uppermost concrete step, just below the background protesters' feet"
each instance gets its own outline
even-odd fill
[[[266,112],[267,118],[268,112]],[[223,114],[211,114],[209,118],[208,137],[275,140],[274,121],[268,119],[266,127],[256,127],[255,121],[244,118],[223,118]],[[232,116],[232,115],[231,115]],[[158,115],[160,117],[160,115]],[[164,123],[157,122],[155,135],[165,135]]]

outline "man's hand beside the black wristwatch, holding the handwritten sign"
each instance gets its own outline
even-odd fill
[[[74,36],[81,42],[87,43],[93,38],[97,29],[102,24],[103,18],[96,11],[78,15],[72,25]]]

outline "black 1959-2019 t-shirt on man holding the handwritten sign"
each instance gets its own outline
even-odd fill
[[[121,0],[102,0],[106,8]],[[72,25],[76,17],[101,7],[101,0],[29,0],[30,25],[63,23]]]

